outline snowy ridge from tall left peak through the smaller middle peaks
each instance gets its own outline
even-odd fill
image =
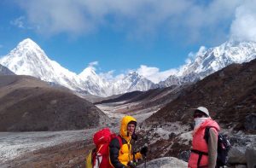
[[[8,55],[0,59],[0,64],[18,75],[30,75],[44,81],[61,84],[79,94],[112,96],[133,90],[148,90],[153,84],[137,73],[131,73],[118,81],[108,81],[96,74],[93,67],[86,67],[76,74],[51,61],[37,43],[30,38],[20,42]]]

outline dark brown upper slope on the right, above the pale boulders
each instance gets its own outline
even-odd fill
[[[191,108],[204,106],[213,119],[243,129],[245,116],[256,113],[256,60],[233,64],[186,88],[176,100],[146,120],[160,125],[182,121],[188,124]]]

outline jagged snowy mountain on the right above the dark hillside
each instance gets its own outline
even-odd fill
[[[195,82],[232,63],[242,63],[256,58],[256,43],[228,41],[218,47],[201,47],[195,60],[181,67],[176,74],[160,82],[160,87]]]

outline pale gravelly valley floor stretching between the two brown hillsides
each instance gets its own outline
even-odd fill
[[[155,111],[150,109],[125,113],[130,105],[97,105],[119,130],[120,119],[133,115],[138,122],[147,119]],[[1,167],[84,167],[86,154],[93,148],[92,136],[100,128],[87,130],[0,132]]]

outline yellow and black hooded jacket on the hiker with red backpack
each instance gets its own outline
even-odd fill
[[[113,138],[109,144],[109,161],[115,168],[123,168],[127,166],[129,161],[142,158],[142,154],[132,153],[131,135],[127,131],[127,126],[131,122],[137,123],[137,120],[131,116],[125,116],[121,120],[119,136],[121,137],[122,144],[119,144],[118,137]]]

